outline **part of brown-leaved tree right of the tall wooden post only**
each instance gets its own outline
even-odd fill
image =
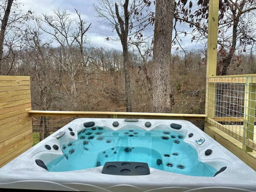
[[[226,57],[221,61],[222,71],[220,75],[227,75],[227,70],[228,67],[230,66],[231,59],[237,50],[238,42],[240,46],[242,46],[243,51],[245,51],[245,48],[247,45],[256,43],[256,38],[253,36],[253,31],[252,31],[252,26],[255,26],[255,14],[251,14],[251,12],[256,10],[256,1],[229,1],[225,0],[220,7],[221,9],[221,15],[220,18],[221,20],[225,23],[225,26],[227,28],[231,28],[232,30],[232,36],[231,36],[231,41],[227,44],[221,45],[222,47],[225,47],[228,50],[228,54]],[[230,10],[230,11],[229,11]],[[230,12],[230,14],[226,14],[227,12]],[[251,15],[250,15],[251,14]],[[250,15],[250,16],[249,16]],[[247,20],[246,19],[251,17],[251,19]],[[226,19],[225,17],[228,17]],[[226,22],[229,22],[227,24]],[[223,26],[223,24],[222,24]],[[256,29],[254,28],[254,35]],[[219,29],[220,34],[226,33],[226,30]]]

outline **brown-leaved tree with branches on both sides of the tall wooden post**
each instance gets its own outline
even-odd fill
[[[177,21],[188,23],[189,27],[193,28],[194,35],[191,41],[198,41],[207,38],[209,1],[197,1],[197,9],[193,3],[193,1],[177,1],[175,23]],[[255,0],[219,0],[218,44],[220,51],[225,51],[226,55],[223,55],[218,62],[220,68],[218,75],[227,75],[227,69],[236,52],[245,52],[246,48],[253,47],[256,43],[255,10]],[[187,31],[183,33],[187,35]]]

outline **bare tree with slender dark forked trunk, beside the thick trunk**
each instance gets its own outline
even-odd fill
[[[111,0],[101,0],[99,5],[94,5],[94,10],[98,13],[98,17],[104,18],[111,23],[122,44],[126,111],[132,111],[129,42],[132,42],[132,36],[135,36],[136,41],[142,39],[143,35],[141,31],[150,24],[148,19],[151,15],[151,12],[147,12],[145,15],[142,14],[142,10],[150,6],[150,4],[150,1],[132,0],[129,2],[129,0],[124,0],[117,3]],[[120,9],[120,7],[122,8]],[[143,16],[141,17],[141,15]],[[107,37],[107,40],[109,39]]]

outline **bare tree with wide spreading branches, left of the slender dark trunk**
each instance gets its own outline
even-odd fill
[[[70,90],[69,86],[63,86],[66,89],[67,94],[71,97],[73,109],[77,108],[77,74],[86,67],[86,62],[84,61],[84,44],[85,44],[85,34],[89,30],[91,24],[85,27],[85,22],[81,18],[81,14],[76,14],[78,16],[78,21],[70,19],[70,14],[66,11],[55,10],[53,15],[43,15],[43,19],[37,20],[38,27],[42,31],[49,34],[53,41],[58,44],[59,55],[52,55],[55,62],[62,67],[62,69],[67,73],[70,80]],[[77,24],[77,28],[73,27],[74,22]],[[46,25],[47,27],[45,27]],[[78,48],[78,49],[77,49]],[[79,53],[77,52],[79,50]],[[77,54],[79,55],[77,57]]]

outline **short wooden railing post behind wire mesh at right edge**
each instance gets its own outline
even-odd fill
[[[253,151],[254,116],[255,116],[255,90],[256,85],[251,84],[247,77],[244,92],[244,131],[243,131],[243,152]]]

